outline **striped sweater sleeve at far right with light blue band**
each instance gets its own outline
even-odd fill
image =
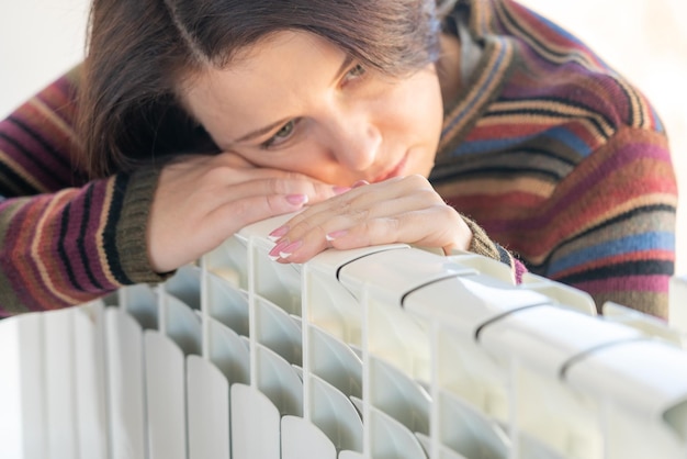
[[[532,270],[607,301],[667,317],[677,182],[666,137],[621,127],[540,206]],[[552,217],[555,215],[555,217]]]

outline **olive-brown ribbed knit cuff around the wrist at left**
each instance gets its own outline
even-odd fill
[[[120,268],[131,283],[158,283],[173,275],[153,270],[146,239],[148,217],[161,168],[144,167],[128,176],[116,225]]]

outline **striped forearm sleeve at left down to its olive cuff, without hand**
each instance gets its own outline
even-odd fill
[[[0,203],[0,314],[65,307],[160,281],[143,236],[156,176],[119,175]]]

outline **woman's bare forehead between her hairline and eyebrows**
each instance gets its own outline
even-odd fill
[[[210,68],[191,78],[182,100],[206,128],[234,138],[297,115],[330,87],[345,58],[340,48],[317,35],[278,32],[240,53],[226,68]]]

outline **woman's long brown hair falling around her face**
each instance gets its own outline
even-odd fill
[[[437,59],[441,0],[93,0],[79,91],[86,169],[129,170],[215,147],[176,96],[182,80],[278,31],[317,34],[401,76]],[[454,0],[453,0],[454,1]]]

